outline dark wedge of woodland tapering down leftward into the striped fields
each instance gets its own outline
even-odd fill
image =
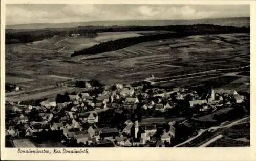
[[[149,27],[148,27],[149,28]],[[158,35],[147,35],[132,38],[123,38],[114,41],[104,42],[98,45],[94,45],[90,48],[75,51],[71,54],[71,57],[78,55],[91,55],[96,53],[108,52],[113,50],[119,50],[128,46],[136,45],[146,41],[154,41],[160,39],[178,38],[191,35],[204,35],[204,34],[227,34],[227,33],[248,33],[249,28],[236,28],[233,26],[219,26],[219,25],[208,25],[208,24],[197,24],[197,25],[174,25],[174,26],[158,26],[150,29],[145,28],[144,30],[168,30],[175,31],[176,33],[158,34]]]

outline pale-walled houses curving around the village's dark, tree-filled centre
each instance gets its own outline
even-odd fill
[[[64,103],[56,103],[55,99],[48,99],[42,101],[41,107],[28,106],[28,111],[36,108],[40,112],[37,117],[41,121],[30,121],[27,116],[20,114],[16,116],[14,121],[17,126],[10,126],[6,129],[6,135],[15,137],[19,136],[20,132],[25,132],[24,136],[33,136],[35,132],[41,132],[43,129],[63,130],[63,134],[68,139],[76,139],[77,143],[92,144],[98,142],[114,142],[117,146],[145,146],[147,143],[154,143],[155,146],[165,146],[166,143],[172,143],[175,138],[174,123],[169,123],[169,128],[164,129],[160,138],[155,138],[157,132],[156,125],[140,125],[138,121],[132,122],[127,120],[124,123],[123,129],[117,128],[98,128],[99,112],[104,112],[113,107],[116,102],[122,102],[121,106],[130,106],[136,109],[137,103],[143,103],[144,110],[154,109],[156,111],[164,112],[172,109],[176,104],[170,95],[177,100],[183,100],[190,97],[190,108],[197,104],[203,105],[203,109],[207,109],[211,103],[218,103],[223,100],[223,96],[229,96],[241,103],[244,99],[236,91],[231,90],[211,90],[205,99],[201,99],[196,91],[191,91],[184,88],[174,88],[169,92],[162,89],[148,89],[141,92],[143,87],[124,86],[122,84],[115,85],[116,90],[106,88],[103,93],[97,96],[91,96],[89,93],[78,93],[76,95],[69,95],[70,100]],[[65,112],[65,116],[59,118],[58,122],[51,120],[58,115],[56,109],[66,108],[72,103],[70,111]],[[120,106],[120,103],[118,103]],[[90,111],[88,110],[90,107]],[[17,107],[16,107],[17,108]],[[50,109],[46,112],[45,109]],[[20,110],[16,109],[18,112]],[[57,110],[58,111],[58,110]]]

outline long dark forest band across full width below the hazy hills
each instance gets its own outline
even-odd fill
[[[46,28],[46,29],[22,29],[6,30],[6,44],[27,43],[40,41],[58,36],[67,36],[72,33],[79,33],[86,37],[96,37],[97,32],[122,32],[122,31],[145,31],[145,30],[165,30],[175,32],[249,32],[249,28],[236,28],[233,26],[219,25],[170,25],[170,26],[78,26],[75,28]]]

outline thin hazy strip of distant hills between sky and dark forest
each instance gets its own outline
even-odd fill
[[[250,18],[250,16],[243,17],[212,17],[212,18],[201,18],[201,19],[130,19],[130,20],[101,20],[101,21],[80,21],[80,22],[57,22],[57,23],[19,23],[19,24],[5,24],[5,26],[12,25],[30,25],[30,24],[63,24],[63,23],[90,23],[90,22],[106,22],[106,21],[189,21],[189,20],[204,20],[204,19],[225,19],[225,18]]]

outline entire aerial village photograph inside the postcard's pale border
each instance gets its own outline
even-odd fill
[[[6,148],[250,147],[249,4],[5,13]]]

